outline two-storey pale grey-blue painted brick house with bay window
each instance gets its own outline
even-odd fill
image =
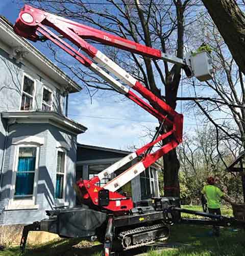
[[[73,206],[77,135],[66,96],[81,87],[0,17],[0,224]],[[66,103],[67,104],[67,103]]]

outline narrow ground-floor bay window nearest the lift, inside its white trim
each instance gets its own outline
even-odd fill
[[[55,198],[64,198],[64,178],[65,178],[65,152],[58,151],[56,169]]]

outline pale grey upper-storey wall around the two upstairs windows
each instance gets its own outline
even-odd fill
[[[40,71],[38,72],[36,68],[30,68],[21,63],[16,64],[13,60],[9,59],[8,54],[1,49],[1,43],[0,72],[0,111],[20,110],[22,82],[25,74],[36,82],[33,110],[41,110],[42,90],[43,86],[45,86],[53,92],[53,110],[58,113],[64,112],[64,97],[57,86],[55,86],[55,83],[45,78],[45,75],[41,74]]]

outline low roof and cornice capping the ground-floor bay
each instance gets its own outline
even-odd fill
[[[66,118],[56,111],[7,111],[2,112],[1,117],[10,119],[11,123],[49,123],[75,134],[83,133],[87,130],[87,127]]]

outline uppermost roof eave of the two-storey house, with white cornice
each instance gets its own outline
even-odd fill
[[[70,79],[61,69],[56,66],[50,59],[45,57],[38,51],[29,41],[18,36],[11,22],[3,16],[0,16],[0,40],[5,45],[5,51],[11,54],[13,49],[18,47],[25,53],[23,59],[30,62],[37,69],[50,77],[57,84],[63,87],[64,90],[78,92],[82,88],[75,81]]]

